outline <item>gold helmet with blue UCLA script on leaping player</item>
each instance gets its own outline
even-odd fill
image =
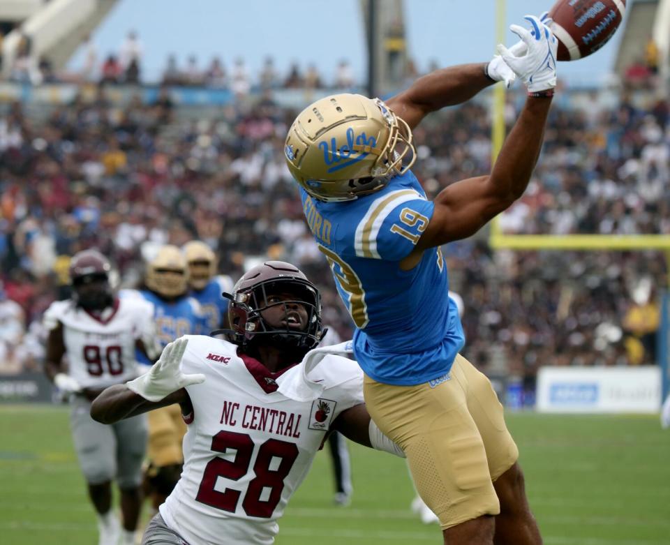
[[[378,98],[355,94],[306,107],[288,130],[284,154],[298,184],[329,202],[378,191],[416,158],[408,124]]]

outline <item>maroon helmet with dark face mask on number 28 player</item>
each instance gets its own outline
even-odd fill
[[[271,294],[295,294],[295,300],[268,303]],[[268,341],[284,348],[311,350],[321,342],[325,331],[321,324],[321,295],[307,277],[290,263],[266,261],[246,271],[235,284],[230,299],[228,318],[232,327],[230,340],[246,345],[253,339],[268,338]],[[286,321],[283,327],[272,327],[261,312],[282,305],[288,315],[291,305],[300,304],[307,311],[304,330],[291,327]],[[265,342],[268,342],[265,341]]]

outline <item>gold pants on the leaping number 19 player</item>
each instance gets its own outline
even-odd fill
[[[519,457],[489,379],[460,354],[448,376],[416,386],[364,381],[368,412],[405,451],[442,529],[500,513],[493,481]]]

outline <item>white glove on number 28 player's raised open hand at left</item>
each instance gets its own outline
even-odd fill
[[[187,344],[188,339],[186,338],[178,338],[177,341],[168,344],[163,349],[161,358],[151,366],[147,373],[126,382],[128,389],[147,401],[161,401],[173,391],[204,382],[202,373],[184,375],[179,368]]]

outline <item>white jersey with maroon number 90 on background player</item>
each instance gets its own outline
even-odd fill
[[[83,388],[104,388],[141,373],[135,341],[154,336],[151,305],[139,298],[116,299],[114,307],[96,317],[75,302],[54,301],[44,313],[48,330],[63,324],[68,374]]]

